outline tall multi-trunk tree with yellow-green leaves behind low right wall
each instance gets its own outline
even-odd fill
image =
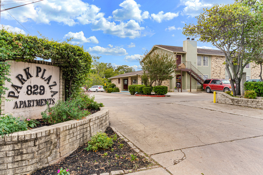
[[[252,0],[254,1],[254,0]],[[245,66],[250,62],[246,56],[249,41],[255,38],[255,8],[262,6],[261,2],[248,5],[248,1],[236,1],[228,5],[214,5],[205,9],[197,18],[197,24],[184,27],[183,34],[200,37],[198,40],[212,43],[224,52],[226,57],[226,71],[231,79],[230,83],[234,95],[240,95],[240,81]],[[233,75],[233,76],[232,76]],[[234,81],[233,81],[234,80]]]

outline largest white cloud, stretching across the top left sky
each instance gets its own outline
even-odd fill
[[[16,6],[9,5],[8,8]],[[45,0],[38,3],[28,4],[10,10],[11,14],[19,22],[35,21],[37,23],[50,24],[51,21],[73,26],[77,23],[89,24],[92,21],[103,17],[104,13],[99,13],[100,8],[89,5],[81,0]],[[15,12],[15,13],[14,13]],[[12,19],[8,12],[1,13],[1,17]]]

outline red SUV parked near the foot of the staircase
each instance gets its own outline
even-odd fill
[[[232,87],[230,81],[227,79],[206,79],[203,84],[203,89],[205,89],[207,93],[210,93],[211,91],[226,92],[231,91]]]

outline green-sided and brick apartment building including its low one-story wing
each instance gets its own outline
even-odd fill
[[[177,68],[172,73],[173,78],[162,83],[172,92],[175,88],[181,92],[201,91],[203,81],[207,78],[229,79],[223,64],[224,53],[221,50],[197,48],[197,41],[194,39],[187,38],[183,41],[183,47],[154,45],[149,54],[153,52],[165,52],[177,60]],[[244,72],[247,80],[258,78],[260,68],[252,62],[246,65]],[[128,85],[142,84],[142,75],[143,71],[136,71],[109,79],[121,91],[125,91],[128,90]]]

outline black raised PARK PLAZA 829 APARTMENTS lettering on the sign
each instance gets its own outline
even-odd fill
[[[17,99],[19,99],[19,93],[20,93],[20,90],[23,88],[22,85],[25,84],[25,82],[32,78],[33,76],[30,74],[29,72],[29,69],[30,67],[27,67],[26,69],[24,69],[25,71],[25,75],[26,77],[23,77],[22,74],[18,74],[16,76],[16,78],[18,78],[19,82],[21,83],[21,86],[20,85],[14,85],[12,84],[12,87],[14,88],[14,90],[16,91],[9,91],[8,92],[8,97],[15,97]],[[46,83],[49,85],[50,81],[51,81],[51,78],[52,78],[52,75],[50,75],[49,77],[46,78],[45,74],[46,74],[46,69],[44,69],[42,71],[41,67],[36,67],[36,77],[39,77],[41,75],[41,79],[43,79],[44,81],[46,81]],[[27,79],[25,79],[27,78]],[[56,81],[53,82],[52,85],[49,85],[49,89],[53,89],[53,86],[56,86],[57,83]],[[26,87],[27,91],[26,91],[26,94],[27,95],[44,95],[45,94],[45,86],[44,85],[27,85]],[[55,104],[55,99],[52,98],[53,96],[55,96],[56,94],[58,93],[58,91],[52,91],[51,90],[51,98],[42,98],[42,99],[33,99],[33,100],[21,100],[21,101],[15,101],[15,104],[14,104],[14,109],[15,108],[27,108],[27,107],[34,107],[34,106],[44,106],[46,105],[47,103],[48,104]]]

